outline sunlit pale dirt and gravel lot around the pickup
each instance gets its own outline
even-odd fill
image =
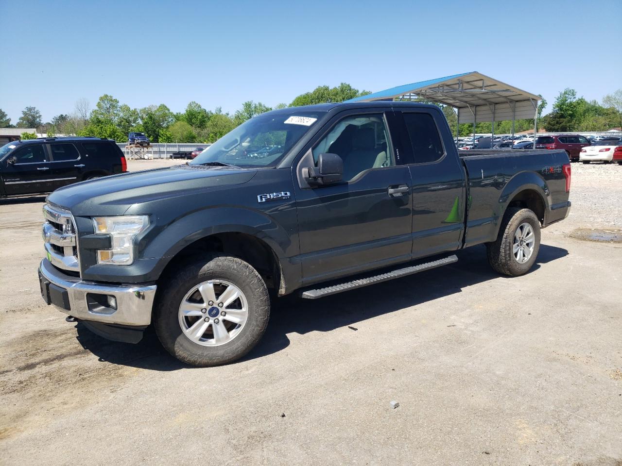
[[[622,167],[572,170],[572,213],[526,276],[475,247],[281,299],[216,368],[65,322],[39,295],[44,199],[0,202],[0,463],[621,465],[622,243],[573,232],[622,229]]]

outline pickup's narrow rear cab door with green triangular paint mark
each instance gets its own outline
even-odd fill
[[[412,258],[462,245],[466,174],[440,112],[401,109],[412,179]],[[444,135],[444,137],[443,137]]]

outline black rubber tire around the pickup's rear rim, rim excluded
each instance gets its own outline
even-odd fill
[[[535,243],[531,257],[519,263],[513,254],[514,234],[523,223],[529,223],[534,230]],[[486,253],[491,267],[503,275],[519,276],[529,272],[536,262],[540,250],[540,221],[531,209],[509,208],[503,216],[496,241],[486,244]]]

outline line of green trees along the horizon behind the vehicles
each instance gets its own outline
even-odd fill
[[[277,104],[277,108],[295,107],[327,102],[342,102],[369,94],[359,91],[347,83],[330,88],[318,86],[313,91],[300,94],[289,104]],[[587,101],[577,97],[574,89],[561,91],[552,107],[552,111],[542,116],[547,101],[542,99],[537,108],[538,127],[549,132],[605,131],[612,127],[622,127],[622,89],[608,94],[598,101]],[[455,136],[457,117],[452,107],[442,106],[448,124]],[[141,109],[132,109],[127,104],[109,94],[101,96],[91,109],[87,99],[79,99],[71,114],[60,114],[49,122],[42,121],[41,113],[35,107],[28,106],[22,111],[16,126],[0,109],[0,127],[36,128],[48,136],[71,134],[114,139],[118,142],[128,140],[129,132],[143,132],[152,142],[215,142],[239,124],[263,112],[272,110],[261,102],[246,101],[233,114],[223,112],[220,107],[210,111],[195,101],[188,103],[183,112],[172,112],[165,104],[150,105]],[[494,123],[495,134],[511,133],[511,121]],[[534,128],[532,119],[516,120],[514,132]],[[490,133],[491,122],[479,122],[476,133]],[[460,124],[461,136],[473,132],[472,124]],[[27,137],[35,137],[34,134]]]

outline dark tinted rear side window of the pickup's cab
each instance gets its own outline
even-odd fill
[[[439,129],[429,113],[404,113],[404,123],[411,137],[415,163],[436,162],[445,150],[440,142]]]

